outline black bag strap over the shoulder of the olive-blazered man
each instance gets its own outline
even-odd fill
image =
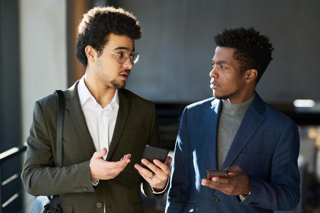
[[[62,167],[62,136],[63,136],[63,120],[64,120],[64,94],[61,90],[55,90],[58,98],[58,121],[57,121],[57,154],[56,154],[56,167]],[[48,213],[56,213],[60,195],[54,195]]]

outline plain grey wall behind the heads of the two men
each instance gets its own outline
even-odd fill
[[[269,103],[319,100],[320,1],[118,1],[138,16],[140,61],[127,87],[155,102],[194,102],[212,96],[210,60],[216,33],[253,26],[275,51],[257,86]],[[147,88],[147,89],[146,89]]]

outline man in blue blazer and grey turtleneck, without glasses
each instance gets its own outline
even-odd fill
[[[300,199],[298,128],[255,91],[272,44],[254,28],[224,30],[215,42],[214,97],[181,116],[166,213],[293,209]]]

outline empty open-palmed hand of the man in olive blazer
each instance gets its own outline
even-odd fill
[[[105,161],[103,156],[107,154],[107,149],[94,153],[90,159],[89,168],[90,174],[96,180],[108,180],[115,178],[130,162],[131,154],[126,154],[117,162]]]

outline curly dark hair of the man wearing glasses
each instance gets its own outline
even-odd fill
[[[123,8],[95,7],[83,14],[76,37],[76,57],[84,67],[88,63],[85,47],[93,46],[100,56],[110,33],[126,35],[132,39],[142,36],[139,21]]]

